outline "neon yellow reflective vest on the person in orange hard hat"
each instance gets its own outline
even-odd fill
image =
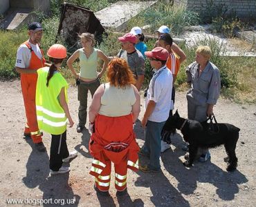
[[[60,105],[59,95],[64,87],[66,101],[68,102],[66,92],[68,83],[60,72],[55,72],[47,87],[46,78],[48,70],[48,67],[37,70],[38,77],[35,97],[37,123],[40,130],[44,130],[52,135],[61,135],[66,130],[67,118]]]

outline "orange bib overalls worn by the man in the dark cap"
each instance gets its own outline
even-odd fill
[[[37,70],[44,67],[45,59],[42,53],[42,59],[39,59],[35,52],[32,50],[28,41],[24,42],[31,52],[31,59],[28,66],[30,70]],[[30,134],[34,143],[42,142],[42,135],[37,125],[37,114],[35,108],[35,90],[37,87],[37,73],[21,74],[21,90],[24,99],[24,106],[26,110],[27,123],[25,126],[24,134]]]

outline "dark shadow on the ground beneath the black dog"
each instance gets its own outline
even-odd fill
[[[176,134],[172,140],[172,144],[176,148],[167,150],[161,155],[163,166],[178,181],[178,190],[185,195],[191,195],[196,190],[197,183],[212,184],[217,188],[216,194],[219,198],[226,201],[234,199],[235,194],[239,192],[238,185],[248,181],[245,175],[241,174],[239,170],[235,170],[235,172],[222,170],[210,160],[205,163],[196,161],[192,168],[185,168],[179,159],[181,157],[185,161],[183,158],[185,152],[181,150],[181,140],[181,135]]]

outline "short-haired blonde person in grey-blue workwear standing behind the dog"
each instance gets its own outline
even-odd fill
[[[210,62],[212,51],[209,46],[196,49],[196,61],[186,68],[188,83],[191,88],[187,93],[188,119],[205,121],[213,114],[213,106],[217,103],[221,91],[219,68]],[[199,148],[199,161],[210,159],[208,149]]]

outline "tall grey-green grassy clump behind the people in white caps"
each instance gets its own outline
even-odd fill
[[[185,26],[196,25],[199,16],[195,12],[186,10],[183,6],[171,6],[166,3],[157,3],[132,19],[130,26],[143,26],[150,24],[151,32],[162,25],[172,30],[172,34],[181,34]]]

